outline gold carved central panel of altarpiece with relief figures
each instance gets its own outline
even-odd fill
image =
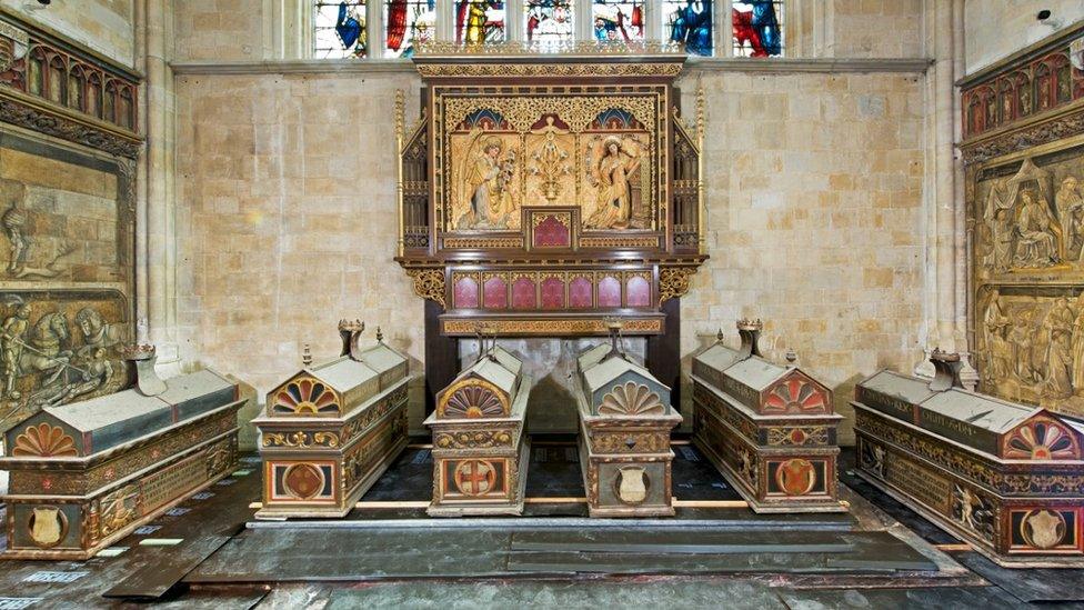
[[[524,206],[579,207],[584,232],[664,227],[665,87],[434,89],[443,232],[519,233]]]

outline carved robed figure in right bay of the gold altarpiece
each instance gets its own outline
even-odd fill
[[[640,168],[639,147],[611,136],[603,140],[602,150],[588,157],[591,167],[589,181],[598,187],[594,213],[586,221],[592,229],[625,229],[632,219],[631,179]],[[595,161],[594,159],[598,159]]]

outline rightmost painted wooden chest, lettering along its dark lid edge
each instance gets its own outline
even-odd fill
[[[931,360],[933,382],[855,388],[859,473],[998,564],[1084,566],[1084,424],[964,390],[957,354]]]

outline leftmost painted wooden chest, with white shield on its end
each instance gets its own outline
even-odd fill
[[[128,353],[138,388],[46,407],[7,432],[4,557],[93,557],[232,472],[237,383],[209,369],[163,382],[153,348]]]

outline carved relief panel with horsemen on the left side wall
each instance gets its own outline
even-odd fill
[[[127,387],[131,161],[0,129],[0,428]]]

